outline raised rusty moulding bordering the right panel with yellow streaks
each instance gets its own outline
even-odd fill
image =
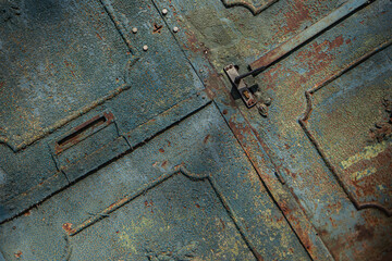
[[[341,70],[340,72],[338,72],[336,74],[332,75],[331,77],[329,77],[328,79],[316,84],[313,88],[308,89],[305,91],[305,98],[306,98],[306,111],[304,112],[303,116],[298,119],[298,123],[301,125],[301,127],[303,128],[303,130],[305,132],[306,136],[309,138],[309,140],[311,141],[311,144],[315,146],[315,148],[317,149],[318,153],[320,154],[320,157],[322,158],[323,162],[326,163],[326,165],[328,166],[328,169],[333,173],[333,175],[336,177],[339,185],[343,188],[344,192],[347,195],[348,199],[353,202],[353,204],[355,206],[355,208],[357,210],[362,210],[362,209],[368,209],[368,208],[375,208],[375,209],[379,209],[382,212],[384,212],[388,216],[392,215],[392,210],[387,209],[384,206],[380,204],[380,202],[377,201],[371,201],[371,202],[359,202],[355,195],[353,195],[353,192],[351,191],[351,189],[345,185],[345,183],[342,181],[342,178],[340,177],[340,175],[338,174],[338,171],[335,170],[335,167],[332,165],[332,163],[328,160],[328,158],[326,157],[326,153],[323,151],[323,149],[321,148],[321,146],[317,142],[316,138],[314,137],[313,133],[310,132],[310,129],[308,128],[308,120],[311,116],[311,111],[313,111],[313,95],[315,92],[317,92],[319,89],[323,88],[324,86],[327,86],[328,84],[332,83],[333,80],[335,80],[336,78],[341,77],[342,75],[344,75],[345,73],[347,73],[348,71],[353,70],[354,67],[356,67],[358,64],[365,62],[366,60],[368,60],[369,58],[371,58],[372,55],[375,55],[376,53],[384,50],[387,47],[392,45],[392,39],[388,40],[385,42],[383,42],[382,45],[378,46],[377,48],[372,49],[371,51],[367,52],[366,54],[364,54],[363,57],[358,58],[357,60],[355,60],[354,62],[350,63],[347,66],[345,66],[343,70]]]

